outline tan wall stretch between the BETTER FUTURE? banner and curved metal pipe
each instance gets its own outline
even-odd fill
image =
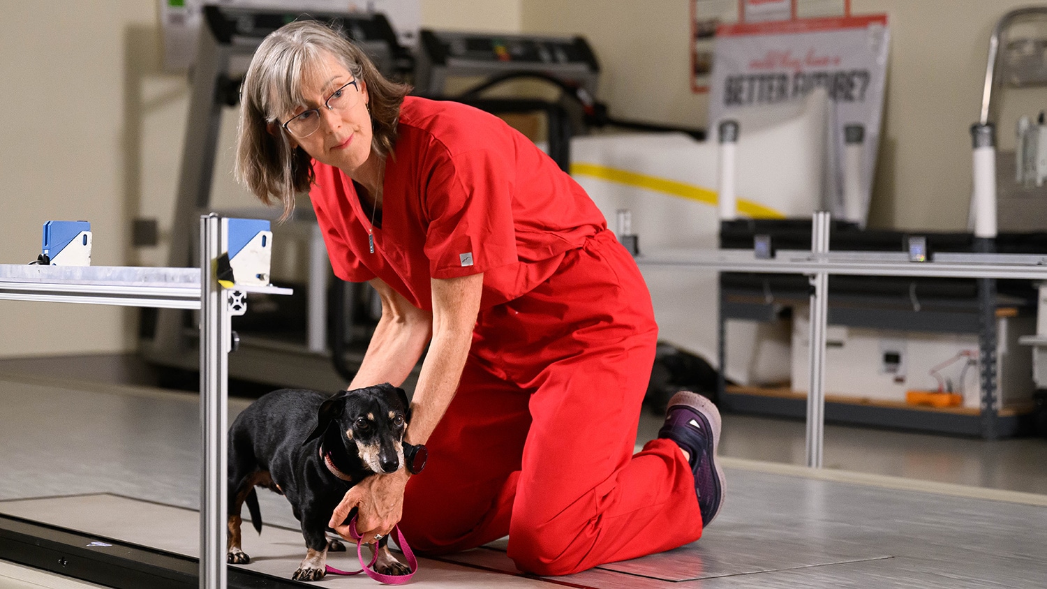
[[[887,13],[891,27],[884,142],[870,223],[898,229],[966,230],[971,126],[977,122],[988,38],[1028,0],[853,0]],[[1047,98],[1047,94],[1043,94]],[[1031,113],[1029,113],[1031,114]],[[998,127],[1002,143],[1012,123]]]

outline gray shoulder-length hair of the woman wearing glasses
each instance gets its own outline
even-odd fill
[[[291,216],[295,195],[308,191],[315,175],[309,154],[300,146],[291,148],[277,117],[302,105],[304,80],[322,67],[325,54],[339,60],[366,85],[375,154],[393,152],[400,105],[410,92],[409,86],[386,80],[359,47],[324,23],[293,22],[266,37],[240,91],[235,175],[263,203],[281,202],[281,220]]]

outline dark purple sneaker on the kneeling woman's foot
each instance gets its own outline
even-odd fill
[[[719,430],[719,411],[713,402],[682,390],[669,400],[665,425],[658,432],[659,437],[675,441],[690,454],[703,527],[713,521],[723,504],[723,471],[716,465]]]

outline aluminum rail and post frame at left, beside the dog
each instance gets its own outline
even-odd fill
[[[226,587],[226,435],[231,318],[246,311],[244,294],[291,294],[291,289],[218,282],[221,218],[200,218],[200,268],[59,267],[0,265],[0,300],[29,300],[199,310],[200,587]]]

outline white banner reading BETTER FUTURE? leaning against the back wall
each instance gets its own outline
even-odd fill
[[[862,206],[859,218],[849,220],[864,226],[879,144],[889,38],[887,15],[720,25],[713,49],[709,129],[715,132],[720,120],[739,109],[795,100],[824,88],[833,108],[823,206],[837,219],[847,218],[844,129],[862,126]],[[744,140],[744,127],[740,131]]]

